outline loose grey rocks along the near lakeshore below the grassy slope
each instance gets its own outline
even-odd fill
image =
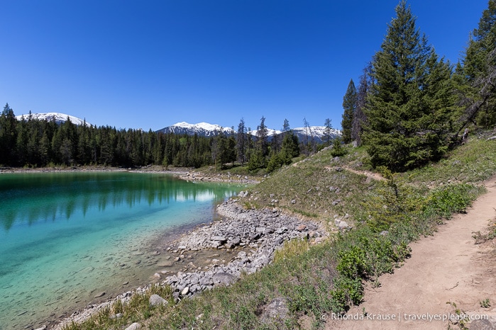
[[[246,194],[241,192],[240,196],[245,197]],[[312,238],[318,244],[328,235],[324,227],[316,222],[285,215],[278,208],[245,210],[236,199],[218,205],[217,212],[221,215],[221,220],[196,227],[170,242],[169,246],[162,246],[162,249],[177,254],[175,261],[185,258],[185,254],[205,250],[229,251],[233,256],[229,261],[211,259],[208,270],[198,267],[196,271],[179,271],[161,280],[160,285],[170,285],[177,301],[193,297],[217,285],[229,285],[236,281],[241,273],[255,273],[273,260],[275,251],[280,249],[285,241]],[[189,266],[194,268],[192,264]],[[160,279],[162,274],[155,273],[155,277]],[[117,300],[128,302],[133,295],[143,294],[151,285],[154,284],[124,292],[99,305],[89,305],[82,311],[74,312],[53,329],[62,329],[71,322],[83,322]]]

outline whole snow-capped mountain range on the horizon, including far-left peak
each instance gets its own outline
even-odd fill
[[[29,115],[17,115],[17,120],[28,120]],[[65,123],[67,118],[70,119],[71,123],[75,125],[91,125],[85,120],[77,118],[73,115],[67,115],[65,113],[31,113],[31,118],[39,119],[39,120],[55,120],[55,123]],[[231,134],[231,127],[221,127],[220,125],[209,124],[209,123],[197,123],[197,124],[189,124],[185,122],[176,123],[171,126],[167,126],[158,130],[156,132],[162,133],[174,133],[174,134],[187,134],[194,135],[195,133],[201,137],[213,137],[219,134],[220,131],[223,131],[225,134]],[[234,131],[236,133],[236,131]],[[299,140],[304,140],[307,137],[309,139],[314,139],[315,142],[321,143],[323,142],[324,137],[326,136],[326,127],[325,126],[309,126],[309,127],[296,127],[292,129],[292,132],[297,135]],[[268,139],[272,140],[272,137],[280,135],[282,132],[280,130],[272,130],[268,128]],[[248,132],[249,135],[256,136],[257,131],[251,130]],[[331,129],[331,139],[335,137],[341,136],[340,130]]]

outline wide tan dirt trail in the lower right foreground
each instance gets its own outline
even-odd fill
[[[473,238],[475,232],[487,233],[496,218],[496,176],[485,186],[487,193],[465,214],[439,226],[434,236],[410,244],[412,256],[395,273],[382,275],[379,288],[368,285],[364,302],[348,311],[348,319],[324,315],[326,329],[448,329],[446,319],[435,319],[455,317],[446,302],[456,303],[472,319],[490,318],[467,321],[467,326],[472,322],[470,329],[495,329],[496,239],[475,244]],[[485,299],[488,308],[481,307]],[[385,317],[390,319],[380,319]],[[463,328],[451,324],[451,329]]]

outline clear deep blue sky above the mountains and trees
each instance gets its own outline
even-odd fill
[[[457,62],[487,0],[410,0]],[[341,127],[397,0],[0,0],[0,103],[94,125]]]

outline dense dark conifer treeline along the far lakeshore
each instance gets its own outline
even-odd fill
[[[34,119],[31,115],[16,120],[7,103],[0,115],[0,166],[155,164],[195,168],[215,165],[221,169],[239,161],[250,170],[272,171],[290,163],[302,150],[316,149],[313,143],[300,144],[289,124],[286,132],[269,142],[264,121],[262,118],[257,137],[247,134],[243,120],[236,134],[219,131],[215,137],[199,137],[75,125],[69,118],[61,124]]]

